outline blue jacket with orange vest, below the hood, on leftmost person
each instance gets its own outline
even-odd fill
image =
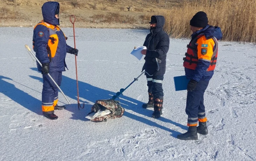
[[[65,71],[65,57],[71,48],[66,43],[67,37],[58,25],[40,21],[34,27],[33,49],[36,57],[43,63],[50,63],[49,72]],[[38,70],[41,66],[38,64]]]

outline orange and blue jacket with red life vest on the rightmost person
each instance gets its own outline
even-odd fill
[[[221,29],[209,25],[192,35],[183,58],[188,78],[197,82],[211,79],[218,57],[218,40],[221,38]]]

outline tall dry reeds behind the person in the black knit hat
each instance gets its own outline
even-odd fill
[[[181,7],[162,14],[166,18],[164,30],[171,37],[190,37],[190,19],[204,11],[210,25],[221,27],[223,40],[256,42],[255,10],[255,0],[186,0]]]

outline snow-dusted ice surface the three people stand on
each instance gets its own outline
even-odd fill
[[[73,29],[63,28],[74,46]],[[121,97],[123,117],[94,123],[85,118],[97,99],[109,99],[140,75],[144,63],[132,56],[148,30],[76,29],[78,110],[74,55],[67,54],[61,89],[71,105],[41,114],[42,76],[28,55],[33,28],[0,31],[0,160],[170,161],[256,160],[256,45],[220,42],[215,74],[204,95],[208,135],[196,141],[176,139],[187,130],[186,91],[175,91],[173,77],[184,75],[189,40],[171,39],[164,75],[163,115],[151,118],[141,76]],[[59,93],[59,105],[67,104]]]

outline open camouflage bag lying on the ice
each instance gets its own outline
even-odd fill
[[[109,114],[105,116],[100,116],[100,117],[95,117],[95,118],[90,118],[88,117],[93,116],[94,113],[99,113],[100,111],[108,111]],[[101,122],[101,121],[107,121],[108,118],[118,118],[122,117],[124,113],[124,108],[121,107],[120,103],[111,100],[111,99],[101,99],[101,100],[96,100],[95,104],[92,106],[91,112],[88,113],[87,117],[91,121],[96,121],[96,122]]]

